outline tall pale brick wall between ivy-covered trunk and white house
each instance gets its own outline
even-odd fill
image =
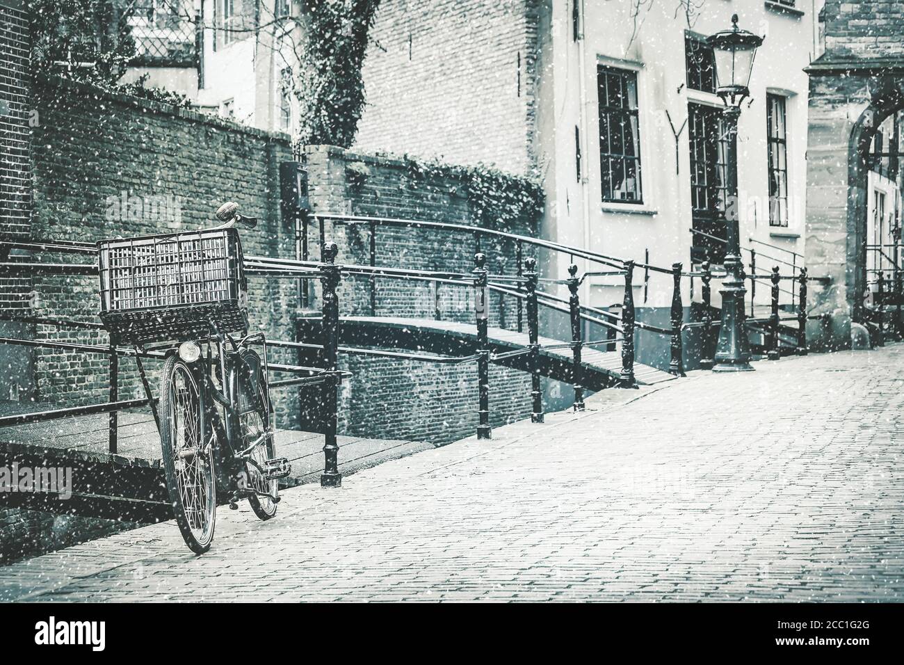
[[[357,149],[534,166],[538,0],[382,0]]]

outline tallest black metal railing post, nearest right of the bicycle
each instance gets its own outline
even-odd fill
[[[321,487],[339,487],[342,485],[342,474],[339,472],[336,442],[336,421],[338,419],[339,373],[336,361],[339,347],[339,295],[337,289],[342,279],[342,267],[335,264],[339,248],[335,242],[324,242],[321,253],[320,278],[324,291],[323,309],[323,345],[324,368],[321,374],[323,385],[324,409],[324,472],[320,476]]]

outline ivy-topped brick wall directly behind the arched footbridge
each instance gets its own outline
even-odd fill
[[[469,195],[467,177],[456,169],[446,172],[423,169],[422,165],[405,159],[323,146],[306,148],[306,166],[315,214],[391,216],[485,225],[536,235],[538,218],[534,212],[525,211],[505,223],[504,228],[482,219],[474,197]],[[356,171],[361,170],[366,170],[368,175],[356,177]],[[474,268],[476,244],[470,233],[381,226],[376,233],[376,265],[462,273],[470,273]],[[325,237],[339,245],[338,262],[367,264],[370,261],[370,230],[366,224],[327,222]],[[515,273],[512,242],[484,239],[480,249],[487,254],[487,265],[494,274]],[[530,248],[524,248],[525,257],[531,254]],[[319,257],[316,242],[312,243],[312,257]],[[431,282],[381,279],[377,280],[376,288],[376,316],[435,317],[437,299]],[[441,318],[474,323],[471,289],[443,284],[438,289]],[[347,276],[339,294],[344,316],[372,315],[369,280]],[[492,296],[490,325],[513,328],[516,311],[512,299]],[[477,396],[473,363],[447,366],[362,356],[340,356],[340,360],[341,368],[353,372],[341,397],[342,431],[435,443],[452,442],[474,433]],[[529,415],[528,375],[493,367],[490,385],[494,425]]]

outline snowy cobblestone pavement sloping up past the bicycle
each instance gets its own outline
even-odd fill
[[[605,391],[222,510],[0,569],[0,599],[859,601],[904,595],[904,345]]]

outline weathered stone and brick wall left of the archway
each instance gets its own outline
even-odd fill
[[[867,242],[864,224],[870,223],[872,194],[863,150],[873,129],[904,108],[902,30],[900,3],[828,0],[825,51],[807,70],[806,256],[812,275],[831,279],[830,285],[815,288],[811,309],[831,317],[824,335],[813,331],[824,347],[849,346],[852,320],[862,322],[862,243]]]

